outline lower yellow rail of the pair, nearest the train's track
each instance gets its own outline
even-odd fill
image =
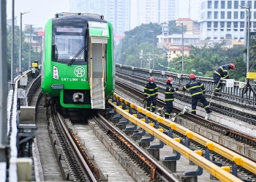
[[[113,109],[116,110],[117,113],[123,115],[124,118],[127,118],[132,123],[140,126],[140,128],[145,129],[146,132],[152,134],[154,137],[157,137],[157,139],[161,140],[166,145],[169,145],[171,148],[178,151],[178,153],[181,153],[182,156],[185,156],[187,159],[191,160],[198,166],[202,167],[204,170],[210,172],[211,175],[214,175],[220,181],[227,181],[227,182],[241,181],[241,179],[227,172],[225,168],[218,167],[216,164],[208,161],[208,159],[205,159],[203,156],[200,156],[199,154],[195,153],[194,151],[190,150],[184,145],[178,143],[173,138],[163,134],[158,129],[155,129],[149,124],[146,124],[145,122],[141,121],[139,118],[136,118],[134,115],[127,113],[127,111],[121,109],[121,107],[118,107],[116,105],[116,102],[111,102],[111,100],[109,100],[109,103],[110,105],[113,106]]]

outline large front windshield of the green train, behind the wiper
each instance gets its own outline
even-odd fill
[[[54,58],[55,61],[69,61],[74,58],[78,51],[84,47],[83,36],[72,35],[56,35],[54,39]],[[84,61],[84,50],[76,59]]]

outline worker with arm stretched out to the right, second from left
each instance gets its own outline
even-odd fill
[[[165,118],[170,117],[170,113],[173,111],[173,101],[174,101],[174,92],[180,91],[181,88],[173,87],[173,77],[168,77],[166,80],[166,88],[165,88],[165,103],[166,103],[166,110],[165,110]]]

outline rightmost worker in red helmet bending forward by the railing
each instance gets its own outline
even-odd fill
[[[229,78],[228,70],[230,70],[230,69],[234,70],[235,64],[233,64],[233,63],[225,64],[220,67],[217,67],[217,69],[214,71],[214,74],[213,74],[214,83],[215,83],[214,96],[222,96],[221,94],[218,94],[219,89],[221,87],[220,79],[222,77],[225,77],[228,79]]]

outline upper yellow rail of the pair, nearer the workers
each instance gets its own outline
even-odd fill
[[[114,94],[114,96],[116,97],[116,99],[121,98],[117,94]],[[126,102],[127,103],[126,105],[128,106],[132,105],[132,108],[134,108],[135,110],[138,110],[138,112],[143,113],[144,115],[147,115],[149,118],[152,118],[158,121],[159,123],[164,124],[165,126],[168,126],[173,130],[176,130],[181,134],[184,134],[190,140],[194,140],[195,142],[200,143],[205,147],[208,147],[210,151],[219,153],[221,156],[224,156],[226,159],[229,159],[230,161],[235,162],[238,166],[244,167],[244,169],[249,170],[250,172],[256,174],[255,162],[252,162],[249,159],[246,159],[244,156],[241,156],[238,153],[235,153],[233,151],[228,150],[227,148],[222,147],[222,145],[219,145],[217,143],[212,142],[211,140],[208,140],[206,137],[200,136],[200,134],[192,132],[189,129],[186,129],[185,127],[180,126],[170,120],[162,118],[159,115],[151,113],[150,111],[138,105],[132,104],[129,101],[125,100],[124,98],[121,98],[121,100],[123,102]]]

